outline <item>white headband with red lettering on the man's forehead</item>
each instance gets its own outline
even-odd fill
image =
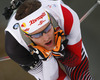
[[[41,7],[27,17],[18,20],[21,29],[29,34],[32,33],[50,21],[48,13]]]

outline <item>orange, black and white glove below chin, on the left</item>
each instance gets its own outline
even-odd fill
[[[52,54],[52,51],[46,50],[41,46],[33,46],[32,43],[29,45],[29,49],[35,59],[47,60]]]

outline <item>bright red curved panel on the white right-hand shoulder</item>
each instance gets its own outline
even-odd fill
[[[62,8],[62,13],[63,13],[63,17],[64,17],[65,34],[69,35],[70,30],[73,25],[73,16],[72,16],[71,12],[68,9],[66,9],[64,6],[61,5],[61,8]]]

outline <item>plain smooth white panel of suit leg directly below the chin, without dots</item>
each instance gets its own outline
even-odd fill
[[[51,56],[47,61],[43,61],[44,80],[57,80],[59,75],[58,63],[56,59]],[[46,75],[46,76],[45,76]]]

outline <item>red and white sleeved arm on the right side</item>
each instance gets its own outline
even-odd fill
[[[82,39],[80,32],[80,21],[77,14],[68,6],[61,5],[64,18],[64,32],[67,35],[68,45],[66,47],[66,58],[61,61],[70,67],[81,62]]]

